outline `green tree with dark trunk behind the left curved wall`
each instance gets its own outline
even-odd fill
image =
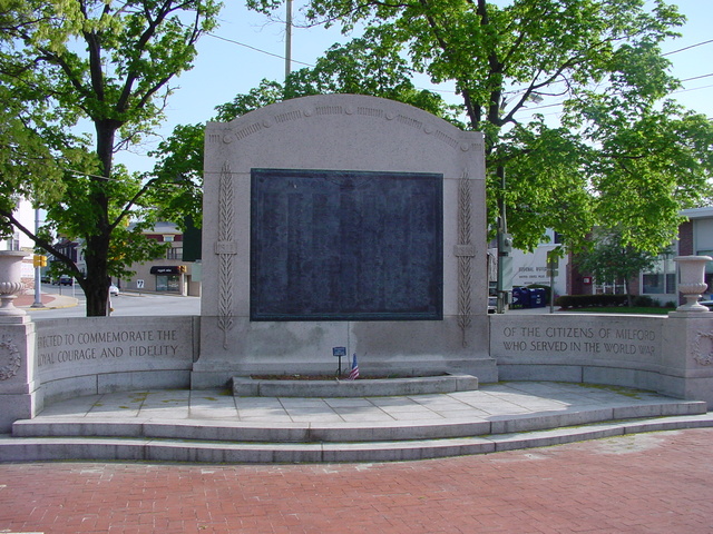
[[[192,67],[195,43],[215,26],[218,8],[215,0],[10,0],[0,18],[6,30],[0,39],[0,83],[14,97],[20,116],[26,111],[31,117],[25,130],[13,131],[35,136],[48,162],[47,172],[29,167],[31,159],[22,155],[29,147],[27,137],[10,148],[11,157],[31,171],[32,185],[14,190],[47,209],[46,231],[36,236],[21,227],[12,202],[0,205],[0,227],[17,226],[60,261],[59,270],[77,278],[87,296],[88,316],[106,315],[109,276],[126,275],[133,261],[157,254],[141,229],[162,215],[165,202],[174,200],[175,211],[183,186],[194,187],[187,177],[148,179],[114,160],[117,151],[135,147],[163,118],[169,82]],[[21,98],[27,91],[42,95],[42,103],[29,105]],[[80,119],[92,125],[91,137],[69,135]],[[61,135],[61,148],[72,154],[71,159],[57,159],[58,136],[50,132]],[[49,187],[51,181],[57,186]],[[129,216],[139,220],[131,229]],[[51,246],[48,230],[84,240],[86,273]]]

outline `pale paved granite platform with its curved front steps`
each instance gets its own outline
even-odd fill
[[[234,397],[148,390],[77,397],[18,421],[0,462],[383,462],[485,454],[713,426],[706,404],[582,384],[485,384],[449,394]]]

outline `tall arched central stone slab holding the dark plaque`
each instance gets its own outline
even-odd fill
[[[374,97],[287,100],[206,127],[201,352],[233,376],[468,373],[488,354],[482,135]]]

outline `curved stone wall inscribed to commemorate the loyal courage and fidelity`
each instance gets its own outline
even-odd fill
[[[35,325],[35,378],[43,403],[191,386],[198,317],[85,317]]]

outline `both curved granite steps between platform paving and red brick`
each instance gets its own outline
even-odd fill
[[[0,437],[0,462],[390,462],[530,448],[642,432],[713,426],[701,404],[585,411],[422,425],[244,425],[205,422],[25,421]],[[674,408],[677,406],[677,408]],[[638,408],[644,408],[638,406]],[[652,414],[651,412],[658,412]],[[665,412],[665,413],[664,413]],[[676,413],[677,412],[677,413]],[[690,415],[681,415],[681,414]]]

